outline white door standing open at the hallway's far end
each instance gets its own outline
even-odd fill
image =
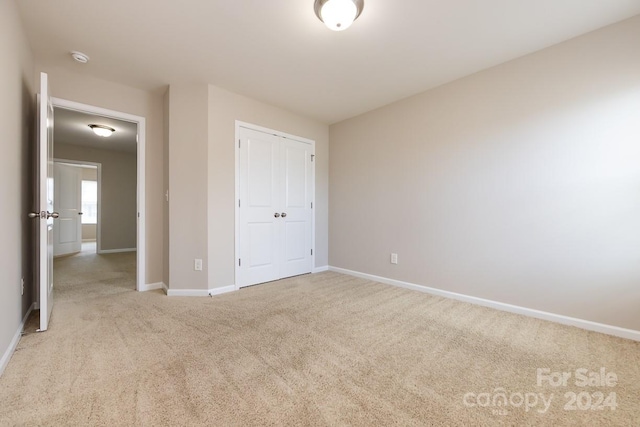
[[[82,168],[54,162],[55,211],[60,215],[53,228],[53,255],[82,250]]]

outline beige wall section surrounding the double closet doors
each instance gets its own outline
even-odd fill
[[[315,267],[328,262],[329,128],[280,108],[209,86],[209,287],[235,283],[235,121],[316,142]]]

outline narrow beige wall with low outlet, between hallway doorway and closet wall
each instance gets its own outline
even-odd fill
[[[169,287],[209,289],[207,274],[207,86],[171,85],[169,108]],[[194,260],[202,260],[195,271]]]

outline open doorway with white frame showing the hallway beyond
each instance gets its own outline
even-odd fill
[[[73,240],[58,251],[54,276],[93,269],[99,281],[113,273],[107,266],[118,264],[126,270],[122,281],[129,289],[144,289],[145,119],[57,98],[52,104],[55,165],[61,170],[54,201],[68,205],[58,208],[69,218],[63,222],[61,214],[55,240]],[[90,126],[95,124],[115,131],[98,136]],[[111,258],[114,262],[103,262]]]

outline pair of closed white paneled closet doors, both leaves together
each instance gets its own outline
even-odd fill
[[[313,144],[240,128],[238,287],[310,273]]]

